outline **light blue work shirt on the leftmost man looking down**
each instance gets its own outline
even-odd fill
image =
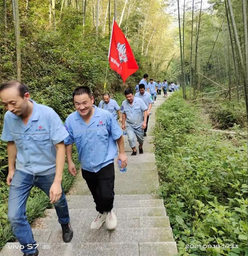
[[[69,134],[52,108],[30,101],[33,112],[26,125],[21,117],[10,111],[5,113],[1,139],[14,141],[17,170],[31,175],[49,175],[55,172],[55,144]]]

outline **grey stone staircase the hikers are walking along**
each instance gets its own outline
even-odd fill
[[[145,137],[144,154],[131,155],[127,138],[128,156],[126,173],[115,164],[114,212],[117,215],[116,230],[107,230],[105,224],[99,230],[91,230],[96,217],[95,204],[81,175],[74,186],[76,195],[67,196],[74,237],[64,243],[62,231],[54,209],[46,210],[42,228],[33,229],[41,256],[174,256],[177,255],[169,218],[163,200],[155,194],[159,182],[155,167],[152,134],[155,125],[155,109],[165,99],[162,95],[153,105]],[[138,145],[138,144],[137,144]],[[137,146],[138,148],[138,146]],[[115,160],[116,162],[116,160]],[[7,243],[0,256],[21,256],[20,249],[10,249],[19,243]],[[12,246],[12,247],[11,247]]]

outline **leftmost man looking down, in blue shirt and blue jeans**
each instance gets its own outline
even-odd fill
[[[0,99],[8,110],[1,136],[8,142],[8,219],[24,247],[21,249],[24,256],[37,256],[37,244],[26,218],[26,202],[33,186],[43,190],[54,204],[64,242],[70,242],[73,237],[61,185],[65,161],[63,139],[69,134],[52,108],[29,97],[26,84],[8,81],[0,85]]]

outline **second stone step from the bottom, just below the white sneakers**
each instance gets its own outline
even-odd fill
[[[33,229],[33,236],[37,244],[63,242],[61,229]],[[170,227],[150,228],[119,228],[116,230],[91,230],[88,226],[77,225],[74,227],[72,243],[82,242],[173,242],[172,229]]]

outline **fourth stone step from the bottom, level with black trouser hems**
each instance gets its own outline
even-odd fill
[[[135,217],[152,217],[152,216],[166,216],[165,207],[139,207],[139,208],[113,208],[113,211],[118,217],[125,218],[135,218]],[[91,209],[70,209],[69,210],[70,218],[78,218],[79,216],[83,219],[84,217],[90,216],[95,218],[97,211],[93,208]],[[47,218],[57,219],[57,214],[55,209],[46,209],[45,215]]]

